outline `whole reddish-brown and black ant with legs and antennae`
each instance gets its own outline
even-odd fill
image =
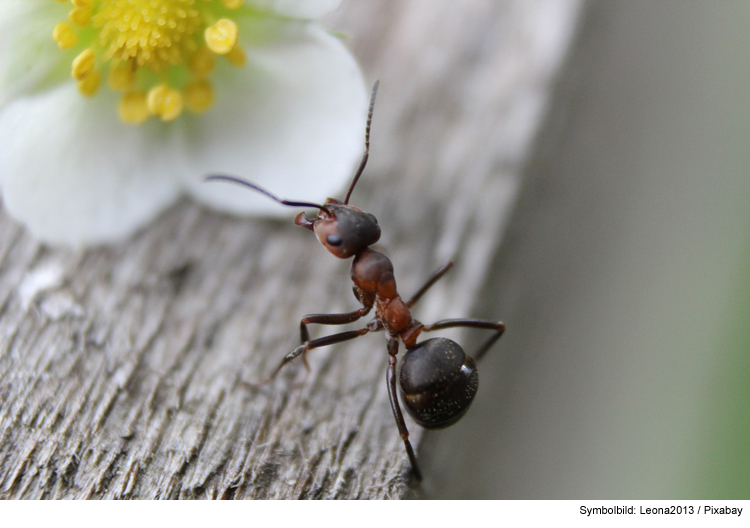
[[[301,212],[294,218],[294,223],[315,233],[318,241],[334,256],[342,259],[354,257],[351,269],[353,290],[362,308],[343,314],[305,315],[300,321],[300,346],[284,357],[267,382],[272,381],[279,371],[297,356],[302,355],[305,367],[309,368],[304,354],[310,350],[385,330],[389,336],[386,371],[388,397],[414,475],[417,480],[422,480],[422,473],[409,442],[409,431],[396,396],[396,356],[399,339],[406,347],[398,374],[401,400],[419,425],[426,429],[440,429],[456,423],[469,409],[479,382],[475,361],[479,360],[503,334],[505,324],[482,319],[444,319],[431,325],[420,323],[412,318],[410,308],[445,275],[453,263],[449,261],[441,266],[409,300],[404,301],[396,289],[393,264],[383,253],[370,247],[380,239],[378,221],[372,214],[349,205],[349,198],[370,155],[370,124],[378,84],[376,81],[373,85],[370,97],[365,128],[365,152],[343,202],[328,198],[323,205],[319,205],[282,200],[253,183],[232,176],[215,175],[206,179],[225,180],[250,187],[282,205],[317,208],[318,216],[315,219],[311,220]],[[363,328],[310,339],[308,325],[353,323],[370,313],[373,307],[375,317]],[[479,347],[473,357],[467,356],[458,343],[450,339],[438,337],[417,342],[422,332],[452,327],[480,328],[492,330],[494,333]]]

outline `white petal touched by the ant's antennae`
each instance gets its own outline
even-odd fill
[[[191,131],[187,184],[208,205],[289,215],[250,190],[202,178],[241,176],[281,198],[320,203],[344,191],[364,151],[367,89],[354,59],[315,24],[285,26],[284,39],[247,50],[244,69],[217,72],[217,105]]]

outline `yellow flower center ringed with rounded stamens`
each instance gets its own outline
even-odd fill
[[[67,2],[68,0],[56,0]],[[243,66],[238,28],[231,19],[242,0],[70,0],[68,22],[52,32],[60,49],[79,49],[71,75],[94,96],[102,72],[122,92],[120,117],[171,121],[184,108],[201,113],[214,102],[208,81],[216,55]]]

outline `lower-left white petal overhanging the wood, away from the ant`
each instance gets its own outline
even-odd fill
[[[160,123],[121,123],[113,99],[85,99],[70,82],[0,112],[3,201],[45,242],[116,240],[179,196],[182,158]]]

